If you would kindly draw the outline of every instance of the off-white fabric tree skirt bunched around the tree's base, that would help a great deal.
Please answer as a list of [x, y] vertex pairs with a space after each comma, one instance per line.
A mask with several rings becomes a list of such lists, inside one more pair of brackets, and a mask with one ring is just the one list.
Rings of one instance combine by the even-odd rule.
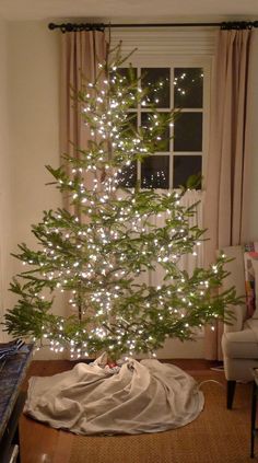
[[130, 359], [116, 372], [96, 361], [54, 377], [33, 377], [24, 412], [80, 435], [137, 435], [185, 426], [203, 404], [197, 382], [179, 368]]

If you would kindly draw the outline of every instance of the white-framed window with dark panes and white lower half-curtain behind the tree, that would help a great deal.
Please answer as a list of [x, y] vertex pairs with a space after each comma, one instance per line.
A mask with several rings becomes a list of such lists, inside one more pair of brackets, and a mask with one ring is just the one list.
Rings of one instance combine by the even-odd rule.
[[[215, 48], [214, 30], [112, 30], [112, 44], [122, 42], [125, 56], [133, 48], [137, 51], [130, 57], [130, 62], [140, 76], [141, 70], [146, 70], [149, 81], [157, 80], [163, 76], [167, 84], [163, 88], [160, 96], [159, 111], [166, 112], [173, 107], [181, 107], [180, 119], [169, 128], [175, 138], [161, 151], [145, 160], [144, 164], [128, 167], [126, 178], [129, 185], [134, 185], [139, 180], [145, 186], [153, 181], [157, 188], [173, 188], [183, 184], [186, 178], [201, 172], [203, 175], [201, 188], [204, 189], [206, 165], [209, 140], [209, 114], [210, 114], [210, 83], [212, 60]], [[126, 70], [124, 72], [127, 72]], [[184, 76], [184, 77], [183, 77]], [[183, 78], [181, 78], [183, 77]], [[143, 83], [148, 84], [148, 78]], [[192, 82], [194, 80], [194, 82]], [[187, 92], [186, 92], [187, 90]], [[185, 93], [184, 93], [185, 92]], [[169, 106], [168, 106], [169, 102]], [[145, 123], [148, 107], [130, 109], [134, 124]], [[157, 175], [159, 172], [159, 175]], [[163, 175], [163, 173], [165, 173]], [[183, 201], [185, 207], [198, 202], [197, 217], [190, 218], [192, 225], [198, 223], [202, 228], [203, 192], [187, 192]], [[162, 218], [156, 218], [162, 221]], [[198, 255], [183, 256], [180, 267], [191, 275], [195, 266], [203, 266], [203, 246], [198, 246]], [[160, 271], [149, 275], [153, 285], [160, 285]], [[201, 338], [203, 329], [197, 329], [197, 352], [202, 351]], [[178, 346], [167, 344], [165, 352], [168, 355]], [[186, 355], [192, 352], [192, 345], [186, 347]], [[199, 355], [199, 354], [197, 354]]]

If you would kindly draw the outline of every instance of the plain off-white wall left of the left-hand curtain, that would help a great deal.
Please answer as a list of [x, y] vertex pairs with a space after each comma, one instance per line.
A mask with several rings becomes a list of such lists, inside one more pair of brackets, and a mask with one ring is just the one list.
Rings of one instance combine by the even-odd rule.
[[[1, 56], [0, 63], [5, 74], [0, 79], [8, 79], [5, 106], [9, 108], [10, 140], [1, 169], [4, 196], [9, 201], [1, 205], [1, 218], [5, 208], [8, 224], [11, 223], [11, 231], [4, 224], [1, 232], [1, 240], [5, 239], [2, 246], [5, 263], [2, 267], [8, 269], [3, 271], [3, 305], [7, 308], [13, 300], [7, 290], [10, 278], [22, 268], [20, 261], [10, 257], [10, 252], [16, 252], [17, 243], [22, 242], [35, 246], [31, 224], [42, 219], [44, 209], [61, 206], [61, 198], [52, 186], [45, 185], [52, 181], [45, 165], [58, 166], [60, 155], [59, 36], [50, 33], [43, 22], [9, 22], [4, 24], [4, 30], [7, 40], [3, 57], [7, 61], [8, 55], [8, 63]], [[0, 85], [0, 91], [2, 88]], [[4, 127], [1, 124], [2, 113], [4, 109], [0, 113], [0, 126]], [[7, 126], [5, 119], [4, 123]], [[0, 143], [7, 144], [8, 141], [0, 140]], [[61, 310], [61, 305], [57, 308], [57, 312]]]

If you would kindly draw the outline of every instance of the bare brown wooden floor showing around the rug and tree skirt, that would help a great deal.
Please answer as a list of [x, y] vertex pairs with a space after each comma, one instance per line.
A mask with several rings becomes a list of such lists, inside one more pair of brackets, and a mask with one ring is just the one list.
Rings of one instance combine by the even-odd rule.
[[[201, 372], [207, 373], [214, 362], [208, 360], [165, 360], [172, 362], [190, 374]], [[74, 362], [69, 360], [33, 361], [23, 389], [27, 389], [27, 380], [32, 375], [49, 377], [70, 370]], [[21, 463], [69, 463], [69, 454], [72, 442], [72, 435], [64, 431], [51, 429], [33, 419], [22, 415], [20, 418], [20, 440], [21, 440]], [[90, 463], [90, 462], [89, 462]]]

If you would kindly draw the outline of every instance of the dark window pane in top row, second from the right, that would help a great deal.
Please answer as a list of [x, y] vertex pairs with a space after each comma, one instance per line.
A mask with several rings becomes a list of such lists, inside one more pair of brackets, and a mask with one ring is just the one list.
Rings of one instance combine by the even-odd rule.
[[171, 69], [142, 68], [142, 89], [148, 89], [146, 106], [171, 107]]

